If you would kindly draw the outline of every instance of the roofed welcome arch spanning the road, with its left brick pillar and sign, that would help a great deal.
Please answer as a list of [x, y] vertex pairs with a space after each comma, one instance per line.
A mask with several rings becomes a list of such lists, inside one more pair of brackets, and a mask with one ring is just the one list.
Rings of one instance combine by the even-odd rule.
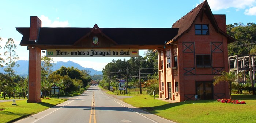
[[29, 103], [41, 102], [41, 50], [48, 57], [136, 57], [139, 49], [163, 50], [178, 33], [177, 28], [99, 28], [97, 24], [93, 28], [44, 28], [37, 16], [30, 17], [30, 27], [16, 30], [23, 35], [20, 45], [29, 50]]

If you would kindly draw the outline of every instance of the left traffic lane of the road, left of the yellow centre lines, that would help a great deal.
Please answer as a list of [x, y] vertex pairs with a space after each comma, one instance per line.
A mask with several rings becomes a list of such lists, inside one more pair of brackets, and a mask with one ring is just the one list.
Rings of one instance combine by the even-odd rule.
[[78, 98], [70, 99], [48, 110], [19, 120], [17, 123], [88, 122], [91, 109], [91, 95], [89, 93], [90, 91], [86, 91]]

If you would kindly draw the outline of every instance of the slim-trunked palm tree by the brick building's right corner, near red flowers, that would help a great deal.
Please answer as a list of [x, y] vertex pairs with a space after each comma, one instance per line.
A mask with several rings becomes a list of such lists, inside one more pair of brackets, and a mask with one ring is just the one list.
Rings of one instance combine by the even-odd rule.
[[228, 82], [229, 84], [229, 96], [231, 99], [231, 90], [232, 90], [232, 82], [234, 82], [237, 78], [237, 75], [234, 72], [221, 72], [220, 76], [214, 76], [214, 82], [213, 85], [215, 86], [216, 84], [219, 84], [220, 82]]

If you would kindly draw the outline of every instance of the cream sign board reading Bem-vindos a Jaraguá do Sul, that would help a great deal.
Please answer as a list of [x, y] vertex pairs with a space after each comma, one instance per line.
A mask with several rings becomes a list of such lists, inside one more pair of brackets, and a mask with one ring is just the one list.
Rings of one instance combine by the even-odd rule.
[[138, 57], [139, 49], [47, 49], [46, 57]]

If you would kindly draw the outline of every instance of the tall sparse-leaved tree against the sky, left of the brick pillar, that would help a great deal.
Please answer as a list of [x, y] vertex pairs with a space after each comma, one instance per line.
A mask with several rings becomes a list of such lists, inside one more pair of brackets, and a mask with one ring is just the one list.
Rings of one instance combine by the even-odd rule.
[[16, 48], [17, 46], [14, 44], [13, 39], [9, 38], [4, 47], [4, 49], [7, 49], [7, 51], [4, 52], [4, 56], [8, 56], [6, 58], [8, 62], [5, 63], [7, 68], [5, 68], [4, 71], [9, 73], [9, 76], [15, 75], [15, 70], [13, 69], [15, 66], [19, 67], [19, 64], [16, 64], [16, 60], [19, 59], [15, 51]]

